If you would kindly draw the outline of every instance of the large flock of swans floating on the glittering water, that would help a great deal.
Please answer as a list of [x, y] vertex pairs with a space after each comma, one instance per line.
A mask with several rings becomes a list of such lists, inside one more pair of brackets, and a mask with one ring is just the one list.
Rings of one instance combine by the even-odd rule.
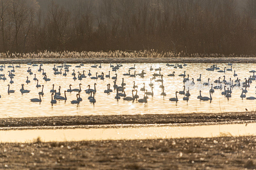
[[[167, 67], [170, 67], [173, 69], [172, 73], [167, 74], [166, 76], [168, 77], [174, 77], [174, 76], [178, 76], [180, 77], [180, 81], [183, 82], [183, 87], [181, 91], [176, 91], [175, 92], [175, 97], [169, 98], [170, 101], [174, 101], [174, 102], [178, 102], [178, 95], [182, 95], [182, 100], [188, 101], [189, 97], [191, 96], [189, 93], [189, 89], [193, 89], [195, 86], [195, 82], [194, 81], [198, 81], [201, 83], [202, 86], [205, 87], [209, 87], [209, 96], [201, 96], [201, 90], [199, 90], [199, 96], [197, 96], [197, 99], [202, 100], [202, 101], [207, 101], [207, 100], [212, 100], [212, 94], [215, 92], [215, 90], [220, 90], [221, 95], [230, 98], [231, 94], [232, 94], [232, 89], [233, 88], [240, 88], [241, 89], [241, 98], [246, 98], [248, 100], [254, 100], [256, 99], [256, 97], [251, 96], [251, 97], [246, 97], [246, 93], [247, 93], [247, 87], [250, 87], [250, 84], [252, 83], [252, 81], [255, 81], [256, 75], [255, 75], [255, 70], [251, 70], [249, 71], [250, 74], [248, 78], [244, 78], [242, 81], [241, 79], [239, 79], [237, 77], [236, 71], [232, 69], [232, 63], [228, 63], [226, 67], [224, 67], [223, 69], [220, 69], [219, 67], [217, 67], [216, 64], [213, 64], [211, 67], [206, 68], [207, 71], [210, 71], [212, 73], [219, 72], [219, 73], [223, 73], [223, 77], [219, 77], [217, 80], [211, 80], [210, 78], [208, 78], [207, 82], [201, 82], [201, 76], [202, 74], [199, 74], [199, 78], [195, 79], [191, 78], [189, 79], [189, 74], [186, 73], [186, 71], [182, 71], [182, 74], [176, 74], [176, 72], [180, 71], [180, 69], [182, 69], [183, 67], [186, 68], [187, 64], [182, 63], [182, 64], [165, 64]], [[30, 99], [31, 102], [42, 102], [42, 98], [44, 96], [44, 85], [40, 85], [40, 81], [51, 81], [51, 78], [47, 77], [47, 75], [49, 75], [47, 72], [49, 72], [49, 70], [44, 70], [44, 66], [43, 64], [35, 64], [35, 63], [27, 63], [28, 66], [28, 70], [27, 70], [27, 74], [28, 76], [26, 77], [27, 80], [25, 81], [25, 83], [29, 84], [31, 81], [29, 80], [29, 75], [33, 76], [33, 81], [36, 81], [36, 88], [41, 88], [40, 91], [38, 92], [39, 98], [32, 98]], [[4, 72], [6, 74], [0, 74], [0, 80], [4, 80], [7, 81], [7, 78], [10, 79], [10, 84], [14, 83], [15, 80], [15, 71], [16, 69], [19, 69], [21, 66], [20, 64], [14, 66], [13, 64], [5, 67], [5, 64], [0, 66], [0, 71]], [[22, 66], [22, 67], [26, 67], [26, 66]], [[148, 101], [148, 96], [154, 96], [154, 82], [160, 82], [161, 85], [159, 86], [159, 88], [162, 90], [161, 92], [161, 96], [167, 96], [167, 94], [164, 92], [164, 76], [163, 74], [161, 74], [161, 67], [159, 68], [152, 68], [152, 66], [148, 69], [148, 70], [141, 70], [138, 71], [138, 69], [136, 69], [136, 64], [133, 64], [132, 67], [130, 67], [127, 70], [127, 73], [120, 75], [118, 74], [118, 70], [121, 69], [123, 67], [123, 65], [121, 63], [116, 63], [116, 64], [111, 64], [108, 66], [108, 72], [104, 73], [101, 72], [100, 69], [103, 66], [101, 66], [101, 64], [94, 64], [91, 66], [91, 68], [95, 68], [98, 69], [98, 71], [95, 73], [95, 75], [92, 75], [90, 68], [86, 68], [84, 66], [83, 63], [76, 65], [76, 66], [72, 66], [72, 65], [68, 65], [67, 63], [62, 63], [61, 65], [56, 66], [55, 64], [52, 67], [52, 73], [56, 76], [67, 76], [68, 74], [72, 75], [72, 79], [74, 81], [79, 80], [79, 88], [76, 89], [72, 89], [72, 85], [69, 85], [69, 89], [64, 90], [64, 96], [61, 96], [61, 87], [59, 86], [59, 89], [56, 90], [54, 89], [54, 84], [52, 85], [52, 89], [49, 91], [49, 95], [51, 94], [52, 99], [50, 101], [50, 103], [57, 103], [57, 100], [64, 100], [67, 101], [67, 96], [66, 93], [72, 93], [72, 92], [76, 92], [76, 100], [72, 100], [70, 101], [72, 104], [79, 104], [83, 99], [82, 99], [82, 93], [85, 92], [86, 94], [88, 94], [88, 100], [91, 103], [95, 103], [96, 102], [96, 92], [97, 93], [103, 93], [103, 91], [98, 92], [96, 90], [96, 85], [97, 82], [99, 83], [103, 83], [104, 79], [112, 79], [113, 80], [113, 85], [111, 85], [110, 83], [107, 83], [107, 89], [104, 90], [104, 93], [106, 94], [110, 94], [113, 92], [113, 90], [116, 90], [116, 96], [115, 99], [120, 100], [126, 100], [126, 101], [137, 101], [138, 103], [147, 103]], [[106, 66], [104, 66], [106, 67]], [[73, 69], [71, 69], [73, 68]], [[88, 69], [88, 72], [85, 73], [85, 71], [83, 70], [82, 72], [77, 71], [76, 69], [78, 68], [83, 68], [83, 69]], [[10, 69], [10, 70], [8, 70]], [[70, 69], [70, 70], [69, 70]], [[7, 71], [8, 70], [8, 71]], [[36, 74], [34, 74], [32, 72], [32, 70], [37, 70]], [[6, 72], [7, 71], [7, 72]], [[136, 73], [137, 71], [137, 73]], [[71, 73], [69, 73], [71, 72]], [[98, 73], [99, 72], [99, 73]], [[110, 76], [110, 72], [113, 76]], [[115, 74], [113, 74], [112, 72], [114, 72]], [[139, 73], [138, 73], [139, 72]], [[234, 72], [233, 76], [236, 78], [235, 81], [231, 80], [231, 77], [229, 78], [229, 80], [226, 80], [226, 76], [225, 73], [226, 72]], [[42, 75], [41, 77], [43, 77], [42, 79], [36, 77], [36, 75]], [[126, 89], [126, 83], [124, 81], [125, 77], [140, 77], [142, 80], [145, 77], [145, 74], [150, 74], [151, 78], [150, 78], [150, 83], [148, 84], [148, 86], [150, 87], [150, 89], [146, 89], [145, 88], [145, 82], [142, 84], [143, 86], [141, 88], [138, 88], [138, 86], [136, 85], [136, 82], [133, 81], [133, 86], [132, 86], [132, 96], [127, 96], [125, 93], [125, 89]], [[7, 75], [7, 76], [6, 76]], [[37, 79], [38, 78], [38, 79]], [[88, 89], [81, 89], [81, 85], [82, 85], [82, 80], [83, 79], [91, 79], [91, 81], [94, 83], [93, 88], [91, 89], [90, 85], [88, 85]], [[121, 85], [117, 85], [117, 80], [122, 79], [122, 83]], [[223, 79], [223, 80], [222, 80]], [[211, 81], [210, 81], [211, 80]], [[8, 80], [9, 81], [9, 80]], [[12, 93], [15, 92], [15, 90], [10, 89], [10, 84], [8, 84], [8, 90], [7, 93], [10, 95]], [[213, 86], [214, 84], [214, 86]], [[113, 87], [113, 90], [111, 89], [111, 86]], [[185, 89], [187, 89], [185, 91]], [[223, 89], [223, 91], [222, 91]], [[144, 95], [142, 97], [138, 96], [138, 91], [142, 91], [144, 93]], [[21, 84], [21, 89], [20, 89], [21, 94], [25, 94], [25, 93], [29, 93], [30, 90], [28, 89], [24, 89], [24, 84]], [[48, 93], [48, 92], [47, 92]], [[46, 95], [48, 95], [46, 93]], [[171, 94], [169, 94], [171, 95]], [[1, 97], [1, 96], [0, 96]]]

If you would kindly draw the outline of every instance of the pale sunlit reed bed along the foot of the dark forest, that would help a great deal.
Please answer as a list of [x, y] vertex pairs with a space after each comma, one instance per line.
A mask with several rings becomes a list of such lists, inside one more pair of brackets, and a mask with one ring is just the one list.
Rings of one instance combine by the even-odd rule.
[[173, 51], [169, 52], [159, 52], [153, 50], [140, 50], [140, 51], [62, 51], [62, 52], [52, 52], [45, 50], [44, 52], [38, 53], [0, 53], [0, 59], [43, 59], [43, 58], [250, 58], [256, 57], [256, 54], [246, 55], [246, 54], [218, 54], [218, 53], [193, 53], [189, 54], [186, 52], [175, 53]]

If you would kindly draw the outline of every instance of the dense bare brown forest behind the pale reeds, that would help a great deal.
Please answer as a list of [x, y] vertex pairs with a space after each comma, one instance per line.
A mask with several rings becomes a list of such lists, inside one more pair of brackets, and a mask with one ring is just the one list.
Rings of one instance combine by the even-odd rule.
[[0, 52], [256, 53], [254, 0], [0, 0]]

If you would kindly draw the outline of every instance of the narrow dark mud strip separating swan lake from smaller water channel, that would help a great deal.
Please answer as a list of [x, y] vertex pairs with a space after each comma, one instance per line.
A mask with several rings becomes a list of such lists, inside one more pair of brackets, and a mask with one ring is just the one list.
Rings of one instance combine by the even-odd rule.
[[1, 118], [0, 127], [68, 126], [105, 124], [185, 124], [204, 122], [228, 122], [256, 120], [256, 112], [145, 114], [145, 115], [97, 115]]

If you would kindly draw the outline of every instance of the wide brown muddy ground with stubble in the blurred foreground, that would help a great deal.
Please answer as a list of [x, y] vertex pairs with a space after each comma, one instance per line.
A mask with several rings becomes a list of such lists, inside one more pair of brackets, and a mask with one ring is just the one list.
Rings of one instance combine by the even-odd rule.
[[256, 137], [0, 144], [1, 168], [255, 169]]

